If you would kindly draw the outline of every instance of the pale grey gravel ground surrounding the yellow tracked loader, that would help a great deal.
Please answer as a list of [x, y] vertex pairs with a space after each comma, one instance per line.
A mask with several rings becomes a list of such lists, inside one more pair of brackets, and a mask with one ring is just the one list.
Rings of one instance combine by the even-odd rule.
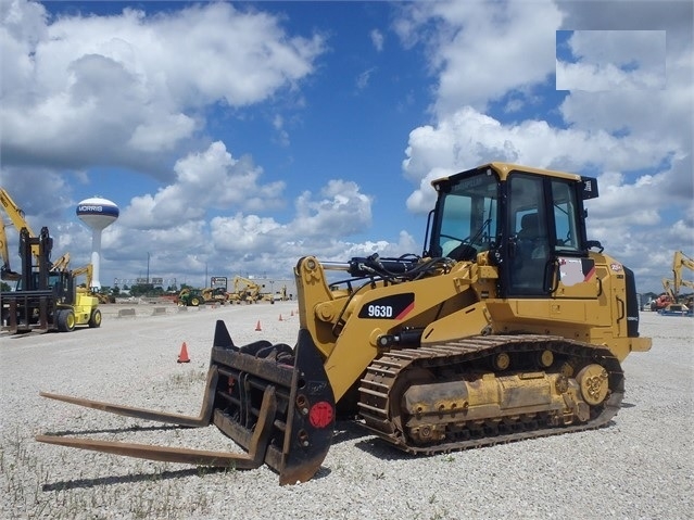
[[[39, 433], [238, 451], [216, 428], [162, 427], [39, 397], [40, 390], [197, 415], [216, 319], [237, 344], [293, 344], [292, 302], [104, 306], [100, 329], [0, 335], [2, 518], [462, 519], [694, 517], [694, 319], [642, 313], [648, 353], [623, 364], [627, 395], [607, 428], [413, 457], [338, 422], [323, 468], [278, 485], [263, 467], [215, 471], [34, 441]], [[282, 318], [281, 320], [279, 318]], [[262, 331], [256, 331], [257, 322]], [[182, 342], [189, 364], [177, 364]]]

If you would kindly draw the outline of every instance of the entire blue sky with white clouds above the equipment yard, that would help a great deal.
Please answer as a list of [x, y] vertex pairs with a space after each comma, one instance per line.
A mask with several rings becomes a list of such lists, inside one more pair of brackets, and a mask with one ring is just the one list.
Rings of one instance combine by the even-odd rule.
[[[694, 253], [692, 3], [27, 2], [0, 11], [0, 183], [101, 283], [420, 253], [430, 181], [595, 175], [589, 237], [659, 291]], [[16, 233], [10, 230], [14, 253]], [[18, 257], [13, 257], [18, 264]]]

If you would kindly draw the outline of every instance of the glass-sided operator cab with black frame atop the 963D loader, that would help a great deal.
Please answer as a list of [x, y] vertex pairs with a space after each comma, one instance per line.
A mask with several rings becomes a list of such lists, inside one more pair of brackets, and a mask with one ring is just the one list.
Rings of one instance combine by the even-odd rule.
[[588, 258], [583, 200], [595, 179], [492, 163], [433, 182], [439, 198], [429, 256], [475, 262], [489, 252], [506, 296], [556, 289], [558, 258]]

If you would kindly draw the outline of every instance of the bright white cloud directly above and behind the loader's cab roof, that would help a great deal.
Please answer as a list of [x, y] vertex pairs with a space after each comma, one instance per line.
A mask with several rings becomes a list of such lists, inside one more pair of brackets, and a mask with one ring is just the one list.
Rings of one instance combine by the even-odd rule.
[[[657, 164], [673, 153], [674, 145], [668, 140], [617, 138], [602, 130], [555, 128], [544, 121], [503, 124], [467, 106], [440, 119], [436, 127], [413, 130], [403, 169], [415, 182], [427, 180], [417, 192], [428, 193], [428, 181], [433, 178], [491, 161], [565, 170], [581, 170], [591, 164], [631, 170]], [[415, 198], [430, 202], [421, 193]], [[412, 210], [427, 207], [431, 206], [413, 205]]]

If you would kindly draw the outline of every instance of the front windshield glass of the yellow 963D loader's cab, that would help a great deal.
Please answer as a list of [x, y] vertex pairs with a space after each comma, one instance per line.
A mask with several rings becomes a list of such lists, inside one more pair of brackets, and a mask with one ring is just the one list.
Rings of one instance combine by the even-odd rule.
[[491, 170], [442, 186], [431, 253], [474, 259], [496, 237], [499, 180]]

